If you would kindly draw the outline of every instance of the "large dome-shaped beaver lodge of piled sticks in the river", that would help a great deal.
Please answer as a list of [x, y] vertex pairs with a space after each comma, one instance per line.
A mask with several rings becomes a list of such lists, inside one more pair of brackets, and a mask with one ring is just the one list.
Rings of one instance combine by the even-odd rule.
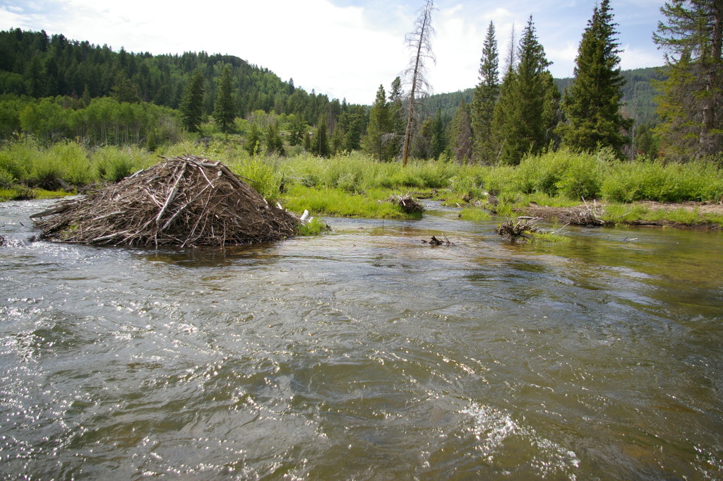
[[226, 245], [286, 239], [299, 218], [269, 205], [228, 167], [164, 158], [117, 184], [33, 214], [42, 238], [105, 245]]

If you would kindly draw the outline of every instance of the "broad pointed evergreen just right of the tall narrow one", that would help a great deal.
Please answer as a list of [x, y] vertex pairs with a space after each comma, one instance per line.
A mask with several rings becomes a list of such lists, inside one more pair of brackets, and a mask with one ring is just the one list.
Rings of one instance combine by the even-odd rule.
[[492, 133], [501, 163], [516, 165], [526, 153], [539, 153], [552, 138], [553, 103], [559, 94], [549, 64], [530, 17], [520, 40], [517, 67], [508, 68], [493, 114]]

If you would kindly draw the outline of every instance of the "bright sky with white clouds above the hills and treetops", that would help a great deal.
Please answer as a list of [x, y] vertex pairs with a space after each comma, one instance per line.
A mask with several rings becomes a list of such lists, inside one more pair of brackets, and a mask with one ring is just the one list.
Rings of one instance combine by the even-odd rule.
[[[266, 67], [283, 80], [330, 98], [372, 103], [408, 64], [404, 35], [418, 1], [383, 0], [0, 0], [0, 30], [46, 30], [67, 38], [151, 54], [207, 51]], [[489, 22], [500, 58], [510, 32], [530, 15], [555, 77], [573, 75], [578, 43], [594, 0], [437, 0], [429, 65], [434, 93], [474, 87]], [[621, 67], [655, 67], [662, 54], [651, 41], [662, 0], [611, 0]], [[518, 35], [519, 38], [519, 35]], [[501, 69], [501, 66], [500, 66]]]

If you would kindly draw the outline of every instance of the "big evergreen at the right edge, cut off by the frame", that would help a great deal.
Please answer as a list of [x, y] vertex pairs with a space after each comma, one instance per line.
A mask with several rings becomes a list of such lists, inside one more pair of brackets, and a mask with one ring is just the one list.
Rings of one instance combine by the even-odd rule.
[[653, 40], [666, 51], [662, 147], [683, 158], [723, 150], [723, 1], [672, 0]]

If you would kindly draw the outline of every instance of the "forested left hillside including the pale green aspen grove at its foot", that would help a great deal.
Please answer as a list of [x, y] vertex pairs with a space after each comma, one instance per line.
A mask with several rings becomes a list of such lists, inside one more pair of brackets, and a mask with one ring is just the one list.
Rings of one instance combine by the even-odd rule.
[[[366, 112], [361, 106], [330, 101], [313, 90], [307, 93], [294, 86], [294, 80], [283, 81], [237, 56], [114, 51], [64, 35], [15, 29], [0, 32], [0, 137], [22, 130], [46, 140], [173, 141], [179, 120], [176, 109], [193, 73], [202, 75], [202, 114], [208, 116], [225, 67], [231, 71], [235, 116], [243, 119], [254, 111], [273, 111], [293, 114], [312, 126], [325, 116], [330, 129], [346, 122], [354, 124], [356, 136], [361, 136], [364, 126], [360, 128], [356, 119]], [[29, 104], [33, 107], [26, 109]]]

